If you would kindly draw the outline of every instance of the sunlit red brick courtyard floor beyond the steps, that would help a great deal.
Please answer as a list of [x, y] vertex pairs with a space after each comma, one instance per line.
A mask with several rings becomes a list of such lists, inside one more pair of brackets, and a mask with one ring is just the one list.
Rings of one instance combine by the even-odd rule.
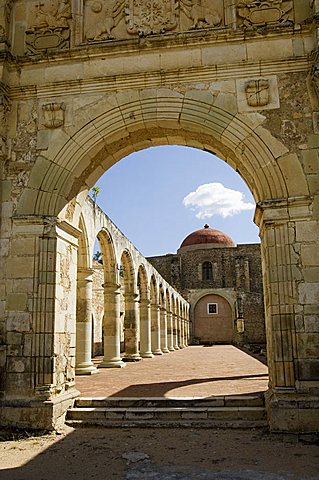
[[232, 345], [191, 346], [76, 377], [83, 397], [210, 397], [262, 392], [267, 385], [267, 367]]

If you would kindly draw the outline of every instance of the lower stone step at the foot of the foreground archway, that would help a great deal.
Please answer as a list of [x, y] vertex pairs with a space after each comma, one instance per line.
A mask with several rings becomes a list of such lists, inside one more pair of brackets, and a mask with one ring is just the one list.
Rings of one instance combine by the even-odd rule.
[[231, 427], [266, 426], [264, 407], [74, 407], [68, 410], [69, 425], [107, 427]]

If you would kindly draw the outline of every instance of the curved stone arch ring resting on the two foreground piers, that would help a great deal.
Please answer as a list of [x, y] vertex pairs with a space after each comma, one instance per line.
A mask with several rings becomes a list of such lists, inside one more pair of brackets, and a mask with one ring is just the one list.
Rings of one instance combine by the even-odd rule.
[[[118, 160], [136, 150], [161, 144], [194, 143], [222, 159], [231, 159], [256, 202], [296, 194], [296, 186], [291, 185], [294, 179], [287, 175], [287, 168], [283, 174], [281, 167], [288, 149], [261, 126], [261, 115], [229, 112], [228, 101], [224, 109], [208, 103], [208, 97], [214, 101], [209, 92], [194, 91], [185, 96], [166, 92], [166, 96], [161, 90], [161, 96], [154, 93], [153, 97], [153, 92], [148, 91], [145, 96], [140, 92], [138, 100], [133, 95], [133, 101], [131, 92], [127, 92], [114, 101], [117, 106], [113, 103], [95, 117], [96, 109], [92, 107], [91, 112], [88, 105], [89, 121], [85, 125], [80, 119], [70, 135], [54, 132], [55, 141], [50, 142], [46, 152], [46, 175], [37, 174], [40, 165], [34, 166], [32, 178], [42, 180], [38, 191], [36, 184], [26, 191], [18, 212], [58, 214]], [[77, 122], [76, 111], [74, 118]], [[297, 156], [291, 157], [290, 163], [291, 170], [296, 165], [303, 175]], [[308, 193], [305, 187], [305, 181], [299, 183], [299, 195]]]

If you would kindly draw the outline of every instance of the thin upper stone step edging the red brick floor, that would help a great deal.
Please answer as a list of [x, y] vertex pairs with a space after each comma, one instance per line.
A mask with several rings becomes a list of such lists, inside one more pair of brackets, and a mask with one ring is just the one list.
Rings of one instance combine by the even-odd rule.
[[216, 397], [81, 397], [76, 407], [263, 407], [264, 395], [227, 395]]

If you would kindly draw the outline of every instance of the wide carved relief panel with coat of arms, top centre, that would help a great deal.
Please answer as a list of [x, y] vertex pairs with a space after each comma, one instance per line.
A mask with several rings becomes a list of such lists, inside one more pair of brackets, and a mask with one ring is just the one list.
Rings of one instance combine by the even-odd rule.
[[214, 28], [224, 24], [224, 0], [85, 0], [84, 37], [88, 42], [133, 35]]

